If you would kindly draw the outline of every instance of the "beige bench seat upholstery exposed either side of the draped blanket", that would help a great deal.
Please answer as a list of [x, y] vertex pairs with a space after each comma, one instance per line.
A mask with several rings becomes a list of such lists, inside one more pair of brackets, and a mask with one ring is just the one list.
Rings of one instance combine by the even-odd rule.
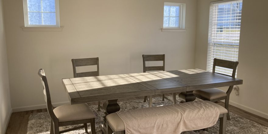
[[[228, 112], [227, 109], [225, 109], [224, 107], [215, 104], [213, 102], [210, 101], [206, 101], [212, 105], [214, 105], [215, 107], [219, 108], [220, 110], [220, 117], [223, 116], [223, 114], [226, 115], [226, 113]], [[109, 115], [106, 116], [107, 122], [109, 127], [111, 127], [112, 131], [115, 132], [115, 134], [117, 134], [116, 132], [120, 132], [120, 131], [124, 131], [125, 130], [125, 125], [123, 120], [118, 116], [117, 113], [111, 113]], [[225, 121], [226, 122], [226, 121]], [[123, 132], [120, 132], [123, 133]], [[108, 133], [109, 134], [109, 133]]]

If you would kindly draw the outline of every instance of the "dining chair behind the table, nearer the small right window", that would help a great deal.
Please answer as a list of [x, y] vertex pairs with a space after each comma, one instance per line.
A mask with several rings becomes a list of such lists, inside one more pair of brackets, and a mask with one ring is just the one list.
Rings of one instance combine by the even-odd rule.
[[[146, 71], [165, 71], [165, 55], [142, 55], [143, 57], [143, 72]], [[151, 61], [163, 61], [163, 66], [146, 66], [146, 62], [151, 62]], [[152, 95], [150, 95], [150, 99], [147, 99], [147, 96], [144, 97], [143, 102], [146, 102], [146, 100], [149, 103], [149, 107], [152, 106]], [[164, 99], [167, 99], [168, 101], [173, 102], [176, 104], [176, 93], [173, 93], [173, 101], [170, 100], [169, 98], [165, 97], [163, 94], [162, 101]]]

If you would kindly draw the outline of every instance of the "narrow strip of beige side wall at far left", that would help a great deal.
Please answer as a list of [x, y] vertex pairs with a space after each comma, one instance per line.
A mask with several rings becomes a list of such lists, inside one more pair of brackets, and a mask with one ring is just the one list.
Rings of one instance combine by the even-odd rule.
[[0, 134], [4, 134], [12, 113], [9, 94], [3, 2], [0, 0]]

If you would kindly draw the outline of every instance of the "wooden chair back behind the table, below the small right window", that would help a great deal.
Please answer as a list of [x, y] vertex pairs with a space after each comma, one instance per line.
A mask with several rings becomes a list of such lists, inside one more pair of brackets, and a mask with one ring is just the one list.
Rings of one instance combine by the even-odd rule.
[[[143, 56], [143, 72], [146, 71], [165, 71], [165, 55], [142, 55]], [[163, 66], [146, 66], [145, 62], [163, 61]]]

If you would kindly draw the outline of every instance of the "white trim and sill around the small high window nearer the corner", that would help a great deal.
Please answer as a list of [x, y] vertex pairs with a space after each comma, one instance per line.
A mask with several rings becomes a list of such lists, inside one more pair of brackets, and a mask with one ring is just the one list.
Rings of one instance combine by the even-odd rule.
[[[179, 26], [163, 26], [162, 32], [185, 32], [185, 12], [186, 12], [186, 4], [185, 3], [170, 3], [164, 2], [164, 6], [179, 6], [180, 7], [180, 15], [179, 15]], [[164, 13], [164, 12], [163, 12]], [[163, 15], [164, 20], [164, 15]], [[163, 24], [164, 25], [164, 24]]]

